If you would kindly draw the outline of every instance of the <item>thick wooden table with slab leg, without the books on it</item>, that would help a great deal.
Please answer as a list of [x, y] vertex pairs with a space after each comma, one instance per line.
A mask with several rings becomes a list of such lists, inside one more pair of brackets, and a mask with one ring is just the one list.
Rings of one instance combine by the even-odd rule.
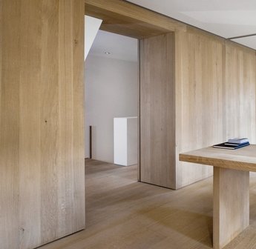
[[256, 145], [206, 147], [180, 153], [180, 161], [214, 166], [213, 247], [221, 249], [249, 225], [249, 171], [256, 171]]

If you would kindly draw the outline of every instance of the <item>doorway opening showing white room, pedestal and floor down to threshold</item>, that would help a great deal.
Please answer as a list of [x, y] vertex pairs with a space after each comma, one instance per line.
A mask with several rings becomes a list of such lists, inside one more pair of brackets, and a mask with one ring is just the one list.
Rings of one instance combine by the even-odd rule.
[[119, 191], [137, 184], [138, 52], [137, 39], [99, 30], [85, 59], [87, 227], [107, 219], [102, 208], [111, 213], [108, 202], [118, 208]]

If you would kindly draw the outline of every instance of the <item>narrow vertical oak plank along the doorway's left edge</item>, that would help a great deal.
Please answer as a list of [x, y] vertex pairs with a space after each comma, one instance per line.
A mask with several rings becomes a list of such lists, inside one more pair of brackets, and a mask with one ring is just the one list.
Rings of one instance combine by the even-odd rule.
[[[76, 0], [73, 4], [73, 13], [79, 18], [73, 18], [73, 54], [72, 54], [72, 81], [73, 81], [73, 228], [81, 230], [85, 228], [85, 81], [84, 81], [84, 36], [85, 16], [82, 16], [82, 2]], [[83, 19], [83, 20], [82, 20]], [[83, 43], [82, 43], [83, 41]], [[79, 218], [79, 219], [77, 219]], [[68, 225], [68, 222], [66, 222]]]

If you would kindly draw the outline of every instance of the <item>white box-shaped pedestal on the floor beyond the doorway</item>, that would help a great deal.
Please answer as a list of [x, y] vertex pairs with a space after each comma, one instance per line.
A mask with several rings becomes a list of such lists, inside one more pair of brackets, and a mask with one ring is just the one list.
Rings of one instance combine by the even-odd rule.
[[114, 118], [114, 164], [137, 164], [137, 117]]

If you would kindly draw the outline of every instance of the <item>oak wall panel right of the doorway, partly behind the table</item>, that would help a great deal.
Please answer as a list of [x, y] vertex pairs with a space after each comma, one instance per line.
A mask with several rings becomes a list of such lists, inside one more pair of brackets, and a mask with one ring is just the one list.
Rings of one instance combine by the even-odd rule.
[[222, 53], [219, 41], [176, 33], [177, 188], [212, 174], [211, 167], [178, 162], [178, 153], [222, 141]]

